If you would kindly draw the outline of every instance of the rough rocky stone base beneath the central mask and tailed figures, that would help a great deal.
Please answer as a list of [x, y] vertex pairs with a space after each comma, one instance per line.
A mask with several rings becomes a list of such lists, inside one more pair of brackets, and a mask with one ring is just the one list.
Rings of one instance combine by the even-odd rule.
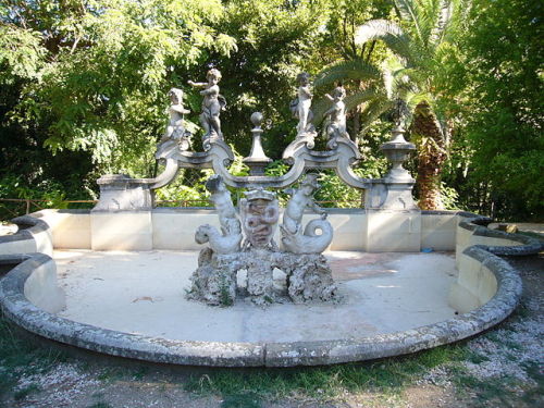
[[[274, 285], [274, 269], [286, 275], [286, 288]], [[247, 287], [237, 285], [237, 273], [247, 271]], [[231, 306], [237, 298], [257, 305], [331, 301], [336, 299], [336, 284], [326, 258], [320, 254], [289, 254], [250, 249], [236, 254], [200, 251], [198, 268], [190, 277], [187, 298], [212, 306]]]

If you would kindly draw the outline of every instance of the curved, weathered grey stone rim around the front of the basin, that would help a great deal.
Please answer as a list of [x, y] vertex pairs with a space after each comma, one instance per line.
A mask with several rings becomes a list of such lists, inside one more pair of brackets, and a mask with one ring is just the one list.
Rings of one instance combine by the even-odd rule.
[[463, 254], [484, 260], [496, 276], [497, 293], [487, 304], [443, 322], [361, 338], [293, 343], [184, 342], [77, 323], [44, 311], [25, 297], [24, 284], [36, 262], [50, 260], [41, 254], [29, 256], [0, 281], [0, 302], [8, 318], [32, 333], [112, 356], [212, 367], [290, 367], [362, 361], [456, 342], [493, 326], [511, 313], [521, 295], [521, 280], [517, 272], [484, 248], [470, 247]]

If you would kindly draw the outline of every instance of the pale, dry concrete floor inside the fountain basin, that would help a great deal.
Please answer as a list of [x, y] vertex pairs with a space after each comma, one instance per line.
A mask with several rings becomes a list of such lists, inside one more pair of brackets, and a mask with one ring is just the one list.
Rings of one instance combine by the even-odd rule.
[[[342, 300], [228, 308], [185, 299], [197, 251], [57, 250], [66, 293], [60, 317], [119, 332], [181, 341], [299, 342], [393, 333], [454, 317], [452, 254], [329, 252]], [[279, 277], [281, 275], [277, 274]]]

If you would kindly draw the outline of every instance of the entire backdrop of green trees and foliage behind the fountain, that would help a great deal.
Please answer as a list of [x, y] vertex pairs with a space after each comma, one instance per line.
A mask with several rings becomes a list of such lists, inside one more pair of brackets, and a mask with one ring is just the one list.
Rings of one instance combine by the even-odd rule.
[[[430, 113], [411, 138], [442, 157], [410, 165], [429, 164], [447, 208], [542, 219], [541, 14], [540, 3], [521, 0], [2, 2], [0, 195], [62, 206], [96, 198], [107, 172], [152, 176], [169, 88], [187, 90], [198, 144], [201, 97], [185, 84], [217, 66], [228, 102], [223, 131], [242, 156], [249, 116], [261, 111], [264, 149], [280, 159], [295, 137], [295, 77], [321, 72], [316, 122], [330, 103], [320, 98], [344, 79], [360, 174], [384, 174], [379, 146], [401, 98], [409, 112]], [[232, 170], [245, 174], [240, 164]], [[206, 199], [205, 176], [183, 171], [158, 198]], [[347, 197], [323, 176], [332, 197]]]

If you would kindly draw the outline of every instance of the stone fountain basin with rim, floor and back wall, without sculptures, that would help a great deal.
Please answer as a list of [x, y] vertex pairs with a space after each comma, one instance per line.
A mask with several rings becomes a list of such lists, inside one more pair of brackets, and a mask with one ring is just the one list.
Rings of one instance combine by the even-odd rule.
[[[460, 211], [339, 211], [330, 215], [337, 235], [326, 252], [338, 302], [263, 308], [238, 299], [220, 308], [185, 298], [198, 250], [186, 244], [188, 234], [176, 234], [211, 217], [160, 209], [94, 220], [89, 212], [47, 210], [16, 219], [20, 231], [0, 237], [4, 316], [52, 341], [152, 362], [362, 361], [456, 342], [497, 324], [521, 294], [517, 271], [498, 255], [543, 250], [542, 243], [489, 230], [479, 225], [484, 219]], [[111, 247], [118, 244], [148, 249]], [[281, 288], [282, 273], [275, 277]], [[244, 285], [243, 272], [238, 283]]]

